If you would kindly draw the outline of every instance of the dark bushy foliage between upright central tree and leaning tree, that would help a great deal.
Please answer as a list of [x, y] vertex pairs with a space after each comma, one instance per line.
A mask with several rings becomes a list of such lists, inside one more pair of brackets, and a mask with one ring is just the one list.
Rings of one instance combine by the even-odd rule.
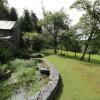
[[[60, 33], [59, 44], [61, 50], [81, 52], [79, 44], [79, 35], [77, 34], [77, 25], [69, 27], [69, 31], [62, 31]], [[76, 54], [75, 54], [76, 55]]]

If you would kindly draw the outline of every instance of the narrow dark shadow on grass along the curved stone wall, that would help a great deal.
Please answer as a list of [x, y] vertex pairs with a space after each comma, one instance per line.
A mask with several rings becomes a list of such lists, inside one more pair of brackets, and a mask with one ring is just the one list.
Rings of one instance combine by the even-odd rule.
[[55, 95], [55, 97], [54, 97], [53, 100], [60, 100], [60, 97], [61, 97], [61, 95], [62, 95], [62, 92], [63, 92], [63, 81], [62, 81], [61, 76], [60, 76], [60, 82], [59, 82], [59, 86], [58, 86], [58, 87], [59, 87], [59, 88], [58, 88], [58, 90], [56, 91], [57, 93], [56, 93], [56, 95]]

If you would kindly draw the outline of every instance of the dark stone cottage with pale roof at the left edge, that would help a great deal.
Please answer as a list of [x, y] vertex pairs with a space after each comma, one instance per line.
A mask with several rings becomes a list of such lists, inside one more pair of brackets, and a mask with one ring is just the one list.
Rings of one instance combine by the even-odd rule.
[[19, 46], [19, 28], [16, 21], [0, 20], [0, 41], [6, 41], [13, 48]]

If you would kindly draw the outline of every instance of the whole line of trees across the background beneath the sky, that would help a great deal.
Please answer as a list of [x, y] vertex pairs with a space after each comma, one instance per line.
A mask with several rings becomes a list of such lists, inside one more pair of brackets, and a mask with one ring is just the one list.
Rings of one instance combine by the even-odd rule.
[[71, 26], [71, 19], [63, 9], [57, 12], [43, 10], [43, 19], [38, 19], [33, 11], [24, 9], [23, 15], [18, 17], [15, 8], [9, 9], [6, 0], [0, 0], [0, 20], [17, 20], [20, 26], [20, 45], [33, 51], [54, 49], [67, 52], [82, 53], [84, 60], [88, 53], [100, 52], [100, 0], [76, 0], [71, 9], [85, 11], [79, 22]]

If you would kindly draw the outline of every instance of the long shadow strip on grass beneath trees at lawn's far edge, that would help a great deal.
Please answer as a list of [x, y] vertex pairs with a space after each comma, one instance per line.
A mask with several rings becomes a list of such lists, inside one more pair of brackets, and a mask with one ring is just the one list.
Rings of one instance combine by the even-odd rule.
[[88, 58], [85, 58], [83, 61], [80, 60], [79, 56], [72, 56], [72, 55], [65, 55], [65, 54], [58, 54], [58, 56], [63, 57], [63, 58], [69, 58], [69, 59], [74, 59], [80, 62], [85, 62], [84, 64], [97, 64], [100, 65], [100, 60], [96, 60], [96, 59], [92, 59], [90, 60], [90, 62], [88, 62]]

